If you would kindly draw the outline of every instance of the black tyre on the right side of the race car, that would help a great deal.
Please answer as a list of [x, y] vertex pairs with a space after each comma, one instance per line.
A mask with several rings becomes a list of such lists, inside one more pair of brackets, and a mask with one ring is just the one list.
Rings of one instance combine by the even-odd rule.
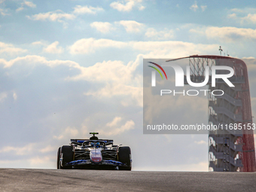
[[125, 163], [127, 166], [119, 166], [120, 170], [132, 170], [131, 163], [131, 149], [128, 146], [122, 146], [118, 148], [117, 160], [121, 163]]

